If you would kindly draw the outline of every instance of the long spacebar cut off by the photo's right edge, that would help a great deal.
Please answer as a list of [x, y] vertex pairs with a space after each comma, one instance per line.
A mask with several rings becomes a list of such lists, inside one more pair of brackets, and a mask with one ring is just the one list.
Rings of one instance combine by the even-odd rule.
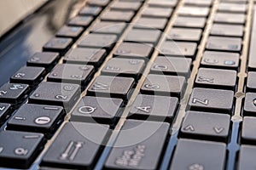
[[256, 71], [256, 11], [253, 14], [253, 27], [251, 34], [251, 44], [250, 44], [250, 52], [249, 52], [249, 60], [248, 60], [248, 68], [249, 71]]

